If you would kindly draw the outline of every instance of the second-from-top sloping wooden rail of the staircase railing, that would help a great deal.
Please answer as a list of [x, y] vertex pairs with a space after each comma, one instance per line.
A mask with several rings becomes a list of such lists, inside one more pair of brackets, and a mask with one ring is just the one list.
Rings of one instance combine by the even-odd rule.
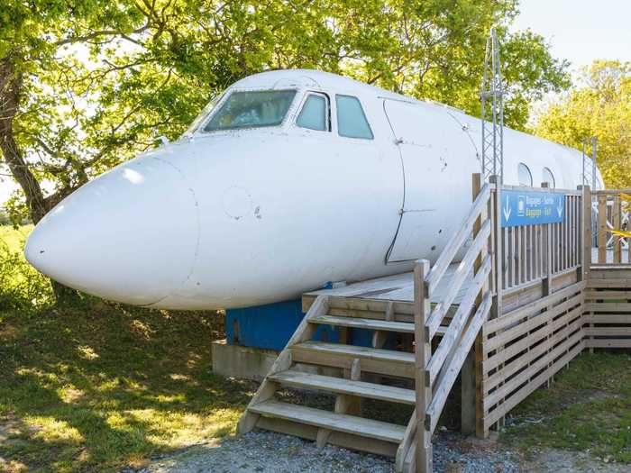
[[425, 323], [425, 340], [431, 341], [434, 337], [438, 327], [443, 322], [444, 315], [447, 314], [450, 305], [453, 304], [453, 299], [458, 295], [458, 291], [462, 287], [462, 283], [465, 278], [470, 274], [471, 268], [473, 268], [473, 262], [478, 258], [480, 254], [480, 250], [486, 244], [487, 240], [490, 236], [490, 219], [488, 219], [480, 228], [480, 232], [473, 240], [471, 247], [467, 250], [467, 254], [462, 259], [458, 268], [456, 268], [454, 272], [453, 279], [451, 281], [450, 286], [447, 288], [445, 296], [437, 305], [435, 305], [434, 310], [430, 314]]

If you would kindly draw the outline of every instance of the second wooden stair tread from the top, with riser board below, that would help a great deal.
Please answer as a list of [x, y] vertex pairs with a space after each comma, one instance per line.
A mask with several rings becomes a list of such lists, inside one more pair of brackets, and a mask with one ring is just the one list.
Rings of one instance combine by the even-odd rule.
[[296, 363], [311, 363], [350, 369], [353, 359], [361, 360], [361, 371], [393, 377], [415, 377], [414, 353], [357, 347], [323, 341], [304, 341], [291, 347]]

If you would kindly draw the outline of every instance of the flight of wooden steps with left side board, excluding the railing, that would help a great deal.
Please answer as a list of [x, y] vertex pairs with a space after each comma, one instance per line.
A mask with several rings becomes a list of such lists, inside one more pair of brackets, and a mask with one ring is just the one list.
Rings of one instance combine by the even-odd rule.
[[[407, 425], [369, 419], [361, 415], [361, 400], [392, 403], [393, 409], [416, 404], [414, 353], [384, 348], [389, 332], [409, 338], [414, 333], [414, 323], [395, 321], [393, 303], [386, 305], [380, 319], [357, 316], [361, 315], [358, 311], [344, 316], [331, 315], [330, 305], [343, 305], [334, 299], [331, 296], [315, 299], [252, 398], [239, 422], [239, 432], [249, 432], [256, 427], [297, 435], [316, 441], [321, 447], [332, 443], [394, 456], [403, 468], [412, 443], [416, 415], [410, 414]], [[374, 312], [370, 316], [374, 317]], [[371, 330], [374, 333], [372, 347], [314, 341], [319, 325], [338, 327], [341, 341], [344, 341], [345, 329]], [[409, 348], [411, 350], [411, 346]], [[321, 374], [323, 371], [326, 376]], [[390, 386], [393, 384], [399, 386]], [[286, 387], [333, 395], [334, 410], [283, 402], [278, 395]]]

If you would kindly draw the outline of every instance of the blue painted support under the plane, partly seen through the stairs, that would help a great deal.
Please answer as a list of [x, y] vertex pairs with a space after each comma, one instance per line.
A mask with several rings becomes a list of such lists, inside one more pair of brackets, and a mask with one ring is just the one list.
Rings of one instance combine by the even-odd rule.
[[[300, 299], [257, 305], [245, 309], [225, 311], [225, 334], [229, 345], [241, 345], [269, 350], [282, 350], [305, 316]], [[238, 340], [234, 340], [234, 328], [238, 325]], [[322, 325], [315, 331], [314, 340], [339, 341], [340, 328]], [[349, 343], [370, 347], [372, 331], [352, 329]]]

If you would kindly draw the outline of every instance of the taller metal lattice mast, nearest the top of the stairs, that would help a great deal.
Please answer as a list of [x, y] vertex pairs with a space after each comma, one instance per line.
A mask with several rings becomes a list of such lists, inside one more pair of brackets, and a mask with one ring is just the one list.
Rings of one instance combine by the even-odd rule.
[[496, 175], [504, 182], [504, 83], [499, 59], [498, 37], [491, 28], [484, 55], [482, 100], [482, 174], [484, 180]]

